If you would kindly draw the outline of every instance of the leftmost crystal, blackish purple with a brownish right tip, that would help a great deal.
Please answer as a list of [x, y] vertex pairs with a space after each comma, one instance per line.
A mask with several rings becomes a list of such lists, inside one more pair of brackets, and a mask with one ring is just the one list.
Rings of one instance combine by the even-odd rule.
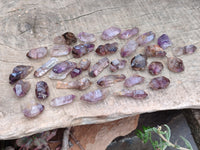
[[25, 78], [28, 74], [31, 73], [32, 70], [33, 66], [24, 66], [24, 65], [16, 66], [9, 76], [9, 83], [14, 84], [18, 80]]

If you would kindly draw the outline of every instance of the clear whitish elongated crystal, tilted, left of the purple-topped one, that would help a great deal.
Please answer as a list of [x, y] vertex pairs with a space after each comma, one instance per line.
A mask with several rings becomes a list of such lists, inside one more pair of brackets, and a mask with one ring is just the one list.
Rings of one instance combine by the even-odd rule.
[[40, 68], [38, 68], [34, 72], [34, 76], [41, 77], [41, 76], [45, 75], [51, 68], [53, 68], [53, 66], [55, 66], [57, 61], [58, 61], [57, 58], [52, 57], [51, 59], [49, 59], [45, 64], [43, 64]]

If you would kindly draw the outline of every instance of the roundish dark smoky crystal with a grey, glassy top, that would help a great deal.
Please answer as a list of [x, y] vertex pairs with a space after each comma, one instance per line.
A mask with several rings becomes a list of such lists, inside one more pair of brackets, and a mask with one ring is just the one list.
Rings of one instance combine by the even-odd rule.
[[139, 71], [144, 70], [147, 65], [147, 57], [145, 55], [139, 54], [132, 58], [131, 67], [133, 70]]

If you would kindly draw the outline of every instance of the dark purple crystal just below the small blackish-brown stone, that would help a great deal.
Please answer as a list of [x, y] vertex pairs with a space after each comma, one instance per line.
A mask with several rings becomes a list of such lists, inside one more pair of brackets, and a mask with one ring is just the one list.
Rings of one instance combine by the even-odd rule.
[[80, 58], [83, 55], [94, 50], [95, 45], [91, 43], [79, 44], [73, 47], [72, 55], [74, 58]]

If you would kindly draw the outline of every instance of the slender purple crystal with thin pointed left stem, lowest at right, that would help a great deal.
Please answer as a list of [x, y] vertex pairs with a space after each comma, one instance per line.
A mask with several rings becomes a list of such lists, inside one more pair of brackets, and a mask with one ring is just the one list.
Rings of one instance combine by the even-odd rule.
[[126, 90], [116, 92], [115, 95], [122, 97], [132, 97], [133, 99], [145, 99], [148, 94], [144, 90]]

